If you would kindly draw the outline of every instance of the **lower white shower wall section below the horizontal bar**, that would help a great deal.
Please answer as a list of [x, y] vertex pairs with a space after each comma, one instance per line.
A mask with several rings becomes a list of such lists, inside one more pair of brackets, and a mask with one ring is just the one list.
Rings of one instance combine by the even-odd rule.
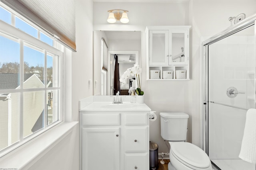
[[209, 104], [210, 159], [239, 159], [246, 110]]

